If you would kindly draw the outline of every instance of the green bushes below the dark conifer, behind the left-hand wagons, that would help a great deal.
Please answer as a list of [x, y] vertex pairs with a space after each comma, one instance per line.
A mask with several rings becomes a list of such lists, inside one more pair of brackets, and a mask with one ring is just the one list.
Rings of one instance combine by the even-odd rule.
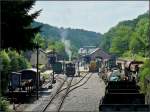
[[9, 74], [21, 69], [30, 68], [31, 64], [15, 50], [8, 50], [7, 52], [5, 50], [0, 51], [0, 59], [1, 92], [3, 94], [8, 85]]

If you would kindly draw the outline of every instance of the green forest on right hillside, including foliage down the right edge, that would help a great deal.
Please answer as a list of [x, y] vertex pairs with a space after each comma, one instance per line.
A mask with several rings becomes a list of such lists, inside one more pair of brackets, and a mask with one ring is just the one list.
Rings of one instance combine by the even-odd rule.
[[145, 79], [150, 76], [150, 19], [149, 13], [136, 19], [119, 22], [105, 33], [101, 47], [118, 58], [144, 61], [140, 69], [141, 91], [150, 92]]

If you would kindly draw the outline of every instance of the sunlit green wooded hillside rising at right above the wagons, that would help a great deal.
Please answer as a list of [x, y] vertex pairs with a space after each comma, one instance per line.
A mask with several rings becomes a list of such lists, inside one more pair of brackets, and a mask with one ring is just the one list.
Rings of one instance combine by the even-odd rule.
[[104, 34], [101, 47], [118, 56], [145, 57], [148, 55], [150, 46], [148, 26], [148, 12], [133, 20], [121, 21]]

